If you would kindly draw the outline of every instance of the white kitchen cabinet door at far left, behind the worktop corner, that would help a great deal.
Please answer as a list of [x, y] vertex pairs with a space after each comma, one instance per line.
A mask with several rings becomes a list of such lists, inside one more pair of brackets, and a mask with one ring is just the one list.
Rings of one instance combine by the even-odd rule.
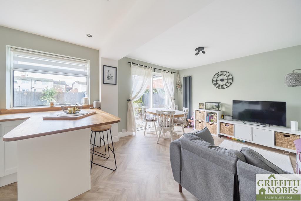
[[[24, 121], [5, 121], [1, 123], [1, 138]], [[17, 172], [17, 141], [4, 142], [2, 139], [1, 141], [0, 149], [3, 150], [3, 154], [0, 155], [2, 162], [0, 176], [5, 176]]]

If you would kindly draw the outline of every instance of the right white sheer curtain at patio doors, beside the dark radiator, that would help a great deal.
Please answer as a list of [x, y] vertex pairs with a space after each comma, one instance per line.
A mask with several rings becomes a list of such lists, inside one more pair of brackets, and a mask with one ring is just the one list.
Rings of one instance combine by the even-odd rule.
[[171, 108], [175, 109], [175, 87], [173, 83], [173, 73], [162, 71], [162, 82], [166, 96], [171, 99]]

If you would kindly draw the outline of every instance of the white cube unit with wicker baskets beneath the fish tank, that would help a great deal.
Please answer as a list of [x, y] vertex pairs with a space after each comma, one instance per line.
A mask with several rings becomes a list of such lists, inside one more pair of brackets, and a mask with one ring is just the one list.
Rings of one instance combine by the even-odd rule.
[[222, 114], [223, 111], [196, 109], [194, 128], [201, 130], [205, 127], [208, 127], [210, 133], [217, 136], [219, 133], [219, 120], [222, 118]]

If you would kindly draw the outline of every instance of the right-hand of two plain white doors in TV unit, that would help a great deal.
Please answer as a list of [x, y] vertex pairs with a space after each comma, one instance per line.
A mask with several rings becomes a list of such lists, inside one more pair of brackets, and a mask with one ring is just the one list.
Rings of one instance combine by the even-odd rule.
[[253, 142], [262, 145], [273, 146], [273, 131], [252, 128]]

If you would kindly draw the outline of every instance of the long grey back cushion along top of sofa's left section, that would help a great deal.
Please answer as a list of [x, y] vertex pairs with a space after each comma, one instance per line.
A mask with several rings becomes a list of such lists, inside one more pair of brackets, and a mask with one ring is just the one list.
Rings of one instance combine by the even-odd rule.
[[196, 136], [195, 134], [192, 134], [192, 133], [184, 133], [184, 138], [186, 140], [197, 143], [201, 146], [205, 146], [209, 149], [220, 152], [221, 154], [225, 154], [225, 155], [231, 156], [233, 158], [237, 158], [237, 159], [239, 159], [243, 162], [246, 162], [246, 159], [244, 158], [244, 155], [242, 153], [240, 153], [239, 151], [237, 151], [237, 150], [226, 149], [226, 148], [223, 148], [223, 147], [214, 146], [211, 143], [206, 142], [205, 140], [202, 140], [200, 137], [198, 137], [198, 136]]

